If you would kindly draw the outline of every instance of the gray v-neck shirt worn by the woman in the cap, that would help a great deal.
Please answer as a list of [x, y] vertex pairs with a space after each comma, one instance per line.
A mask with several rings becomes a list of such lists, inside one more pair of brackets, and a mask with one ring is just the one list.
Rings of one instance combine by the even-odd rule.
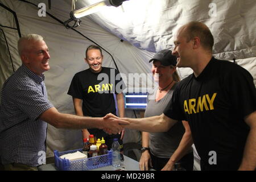
[[[163, 114], [164, 109], [171, 101], [172, 94], [177, 83], [172, 86], [166, 96], [161, 100], [155, 101], [155, 95], [158, 88], [148, 93], [147, 109], [145, 117]], [[151, 154], [158, 158], [170, 158], [174, 151], [179, 146], [180, 140], [185, 132], [184, 126], [181, 121], [177, 122], [171, 129], [164, 133], [150, 133], [149, 148]], [[192, 151], [192, 150], [191, 150]]]

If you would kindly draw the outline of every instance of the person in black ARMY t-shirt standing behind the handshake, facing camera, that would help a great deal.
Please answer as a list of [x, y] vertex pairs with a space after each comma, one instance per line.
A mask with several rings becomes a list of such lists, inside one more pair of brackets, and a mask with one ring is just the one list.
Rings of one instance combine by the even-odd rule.
[[[73, 77], [68, 94], [73, 97], [73, 104], [77, 115], [89, 117], [104, 117], [108, 113], [116, 114], [114, 95], [117, 97], [119, 117], [124, 117], [125, 106], [122, 90], [125, 84], [114, 68], [102, 67], [102, 51], [98, 46], [91, 45], [86, 49], [85, 61], [89, 68], [76, 73]], [[104, 137], [108, 150], [112, 147], [113, 139], [118, 138], [121, 151], [121, 134], [108, 135], [100, 129], [83, 129], [82, 138], [89, 138], [90, 134], [97, 139]]]

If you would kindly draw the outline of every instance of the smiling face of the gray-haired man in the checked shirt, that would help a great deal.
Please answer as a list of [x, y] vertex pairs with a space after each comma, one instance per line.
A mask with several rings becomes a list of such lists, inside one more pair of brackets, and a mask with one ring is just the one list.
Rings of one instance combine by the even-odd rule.
[[46, 43], [42, 41], [29, 40], [27, 41], [28, 46], [22, 52], [21, 59], [23, 64], [28, 69], [37, 75], [42, 75], [43, 72], [48, 71], [49, 67], [49, 49]]

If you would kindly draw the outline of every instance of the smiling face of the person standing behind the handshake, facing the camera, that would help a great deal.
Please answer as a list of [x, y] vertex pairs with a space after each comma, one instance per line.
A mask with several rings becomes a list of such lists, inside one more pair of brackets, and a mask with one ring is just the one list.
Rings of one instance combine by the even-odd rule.
[[101, 72], [102, 58], [100, 50], [89, 49], [86, 53], [85, 61], [88, 63], [90, 70], [94, 73]]

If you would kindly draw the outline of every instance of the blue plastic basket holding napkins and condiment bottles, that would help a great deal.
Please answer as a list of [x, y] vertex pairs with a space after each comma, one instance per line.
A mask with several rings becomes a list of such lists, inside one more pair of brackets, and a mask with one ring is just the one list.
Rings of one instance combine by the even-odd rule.
[[61, 155], [74, 153], [77, 151], [82, 152], [82, 149], [65, 152], [59, 152], [57, 150], [53, 151], [55, 157], [55, 166], [57, 169], [61, 171], [86, 171], [112, 165], [112, 150], [108, 151], [108, 154], [106, 155], [100, 155], [87, 159], [68, 160], [60, 158]]

